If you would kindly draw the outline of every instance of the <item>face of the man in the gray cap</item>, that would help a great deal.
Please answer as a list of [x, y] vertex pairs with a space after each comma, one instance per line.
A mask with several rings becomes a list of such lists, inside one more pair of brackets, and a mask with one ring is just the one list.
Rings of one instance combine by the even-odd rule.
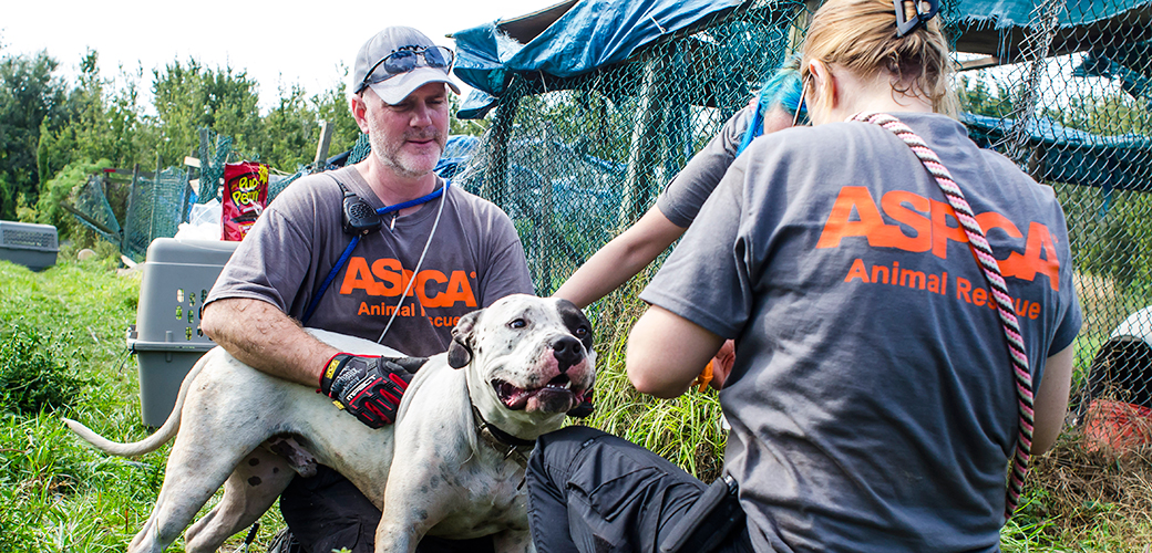
[[403, 101], [387, 105], [364, 93], [364, 124], [372, 154], [403, 177], [427, 175], [435, 168], [448, 140], [448, 91], [429, 83]]

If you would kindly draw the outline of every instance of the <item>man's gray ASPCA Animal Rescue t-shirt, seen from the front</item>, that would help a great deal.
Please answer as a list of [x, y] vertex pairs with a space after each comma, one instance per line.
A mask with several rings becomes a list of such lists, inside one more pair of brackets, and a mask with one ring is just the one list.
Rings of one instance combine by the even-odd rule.
[[[353, 238], [342, 230], [343, 192], [334, 178], [373, 208], [384, 207], [355, 167], [293, 183], [233, 254], [207, 302], [258, 299], [303, 318]], [[384, 215], [384, 226], [361, 238], [306, 325], [376, 341], [399, 309], [384, 344], [409, 355], [434, 355], [448, 348], [462, 315], [505, 295], [533, 292], [511, 221], [457, 186], [448, 187], [435, 236], [414, 275], [440, 203], [433, 199], [397, 217], [394, 226]]]

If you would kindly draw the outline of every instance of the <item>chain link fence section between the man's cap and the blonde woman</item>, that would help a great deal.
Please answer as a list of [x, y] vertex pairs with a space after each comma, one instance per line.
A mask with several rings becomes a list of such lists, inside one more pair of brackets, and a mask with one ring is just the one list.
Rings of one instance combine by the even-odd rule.
[[649, 209], [797, 46], [801, 2], [727, 10], [570, 78], [514, 74], [457, 182], [513, 217], [550, 294]]

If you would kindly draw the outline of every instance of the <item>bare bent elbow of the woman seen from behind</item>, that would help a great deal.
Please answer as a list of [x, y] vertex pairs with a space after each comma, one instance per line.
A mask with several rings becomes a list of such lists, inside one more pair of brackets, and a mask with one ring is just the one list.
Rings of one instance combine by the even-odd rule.
[[[658, 398], [684, 393], [723, 338], [660, 306], [651, 306], [628, 335], [628, 379]], [[727, 375], [726, 375], [727, 376]]]

